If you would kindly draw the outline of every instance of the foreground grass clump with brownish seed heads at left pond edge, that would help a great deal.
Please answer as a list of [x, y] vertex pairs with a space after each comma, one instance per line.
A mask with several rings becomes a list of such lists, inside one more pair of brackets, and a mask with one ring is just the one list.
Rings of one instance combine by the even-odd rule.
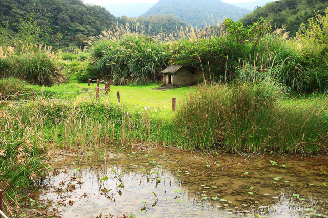
[[4, 191], [3, 211], [11, 214], [19, 195], [43, 177], [46, 164], [37, 133], [22, 123], [22, 117], [10, 116], [8, 107], [12, 106], [0, 103], [0, 189]]

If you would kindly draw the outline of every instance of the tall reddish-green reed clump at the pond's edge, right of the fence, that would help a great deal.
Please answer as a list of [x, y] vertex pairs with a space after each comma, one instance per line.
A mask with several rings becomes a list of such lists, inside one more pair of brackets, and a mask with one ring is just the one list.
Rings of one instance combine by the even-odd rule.
[[189, 147], [227, 152], [325, 152], [328, 98], [284, 106], [279, 85], [202, 86], [181, 103], [176, 123]]

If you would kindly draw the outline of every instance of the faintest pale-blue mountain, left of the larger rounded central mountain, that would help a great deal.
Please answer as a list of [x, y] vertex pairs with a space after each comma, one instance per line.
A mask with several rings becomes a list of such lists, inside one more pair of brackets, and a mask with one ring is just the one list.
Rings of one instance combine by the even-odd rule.
[[104, 5], [115, 17], [139, 17], [150, 9], [155, 3], [118, 3]]

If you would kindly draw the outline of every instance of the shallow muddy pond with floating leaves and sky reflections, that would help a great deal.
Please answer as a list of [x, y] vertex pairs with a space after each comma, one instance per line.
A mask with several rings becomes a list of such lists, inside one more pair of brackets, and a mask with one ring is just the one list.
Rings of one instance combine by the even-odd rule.
[[68, 157], [54, 165], [34, 209], [61, 217], [328, 217], [327, 164], [326, 156], [172, 150], [109, 154], [106, 164]]

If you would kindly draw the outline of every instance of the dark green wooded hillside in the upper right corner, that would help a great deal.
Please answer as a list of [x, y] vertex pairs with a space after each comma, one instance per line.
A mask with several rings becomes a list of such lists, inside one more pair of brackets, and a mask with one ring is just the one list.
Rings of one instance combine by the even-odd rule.
[[309, 18], [315, 16], [315, 11], [324, 14], [327, 7], [327, 0], [278, 0], [255, 9], [240, 21], [244, 25], [251, 25], [263, 17], [272, 20], [273, 26], [281, 28], [284, 25], [286, 31], [290, 31], [290, 36], [295, 36], [302, 23], [307, 23]]

